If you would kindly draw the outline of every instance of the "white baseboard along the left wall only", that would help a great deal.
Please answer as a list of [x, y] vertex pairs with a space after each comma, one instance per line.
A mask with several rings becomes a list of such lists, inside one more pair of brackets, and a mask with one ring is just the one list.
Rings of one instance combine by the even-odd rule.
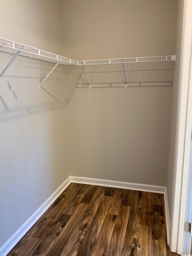
[[4, 243], [0, 248], [0, 255], [5, 256], [16, 245], [17, 242], [27, 233], [35, 222], [43, 215], [49, 206], [57, 199], [71, 183], [70, 176], [53, 192], [53, 194], [31, 215], [31, 217]]

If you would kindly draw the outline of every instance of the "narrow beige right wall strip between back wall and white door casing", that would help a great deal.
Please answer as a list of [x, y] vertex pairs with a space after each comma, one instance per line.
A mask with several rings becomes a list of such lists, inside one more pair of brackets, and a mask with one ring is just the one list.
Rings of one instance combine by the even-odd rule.
[[171, 122], [169, 134], [169, 161], [167, 169], [167, 197], [169, 212], [172, 212], [173, 200], [173, 183], [174, 183], [174, 157], [175, 157], [175, 143], [176, 143], [176, 125], [177, 125], [177, 111], [178, 111], [178, 94], [179, 94], [179, 72], [181, 59], [181, 44], [182, 44], [182, 25], [183, 25], [183, 6], [184, 1], [178, 2], [178, 18], [177, 18], [177, 33], [176, 33], [176, 53], [177, 62], [175, 66], [175, 74], [173, 80], [173, 96], [171, 107]]

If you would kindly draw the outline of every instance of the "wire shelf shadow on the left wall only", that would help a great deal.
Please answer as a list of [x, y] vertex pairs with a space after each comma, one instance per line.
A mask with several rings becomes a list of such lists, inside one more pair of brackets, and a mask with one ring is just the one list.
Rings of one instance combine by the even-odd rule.
[[[12, 56], [0, 53], [0, 72]], [[39, 84], [55, 66], [54, 63], [18, 56], [0, 79], [1, 121], [64, 108], [66, 92], [64, 67], [59, 65], [43, 83]]]

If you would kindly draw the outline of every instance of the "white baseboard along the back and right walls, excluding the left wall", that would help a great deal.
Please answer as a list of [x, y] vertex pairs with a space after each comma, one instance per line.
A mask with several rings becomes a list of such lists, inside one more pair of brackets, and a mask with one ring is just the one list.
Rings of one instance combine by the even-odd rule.
[[113, 187], [113, 188], [125, 188], [125, 189], [133, 189], [133, 190], [140, 190], [140, 191], [164, 194], [165, 219], [166, 219], [166, 228], [167, 228], [167, 244], [169, 245], [170, 217], [169, 217], [169, 207], [168, 207], [167, 188], [166, 187], [139, 184], [139, 183], [122, 182], [122, 181], [115, 181], [115, 180], [107, 180], [107, 179], [77, 177], [77, 176], [70, 176], [70, 180], [71, 180], [71, 182], [76, 182], [76, 183], [107, 186], [107, 187]]

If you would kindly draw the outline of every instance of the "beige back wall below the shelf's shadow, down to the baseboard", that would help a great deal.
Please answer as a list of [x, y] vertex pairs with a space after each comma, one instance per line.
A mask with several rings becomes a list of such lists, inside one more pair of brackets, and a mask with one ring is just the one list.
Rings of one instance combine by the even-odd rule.
[[166, 185], [171, 87], [74, 91], [70, 174]]

